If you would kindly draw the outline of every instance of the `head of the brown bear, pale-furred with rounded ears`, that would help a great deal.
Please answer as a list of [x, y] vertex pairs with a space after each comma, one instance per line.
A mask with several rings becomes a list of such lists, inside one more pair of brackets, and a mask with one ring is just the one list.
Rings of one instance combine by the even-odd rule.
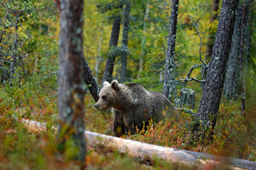
[[99, 111], [106, 111], [114, 106], [117, 98], [117, 90], [119, 89], [118, 81], [113, 80], [110, 84], [105, 81], [103, 83], [103, 88], [100, 90], [100, 99], [95, 104], [95, 108]]

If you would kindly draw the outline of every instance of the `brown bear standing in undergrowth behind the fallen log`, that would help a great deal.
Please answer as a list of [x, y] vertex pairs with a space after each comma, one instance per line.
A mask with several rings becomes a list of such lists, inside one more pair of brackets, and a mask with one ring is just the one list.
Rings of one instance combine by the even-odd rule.
[[124, 132], [136, 132], [149, 124], [164, 118], [178, 118], [176, 109], [163, 95], [155, 91], [146, 91], [141, 84], [119, 84], [117, 80], [105, 81], [100, 90], [100, 99], [95, 104], [99, 111], [112, 108], [114, 136], [120, 137]]

